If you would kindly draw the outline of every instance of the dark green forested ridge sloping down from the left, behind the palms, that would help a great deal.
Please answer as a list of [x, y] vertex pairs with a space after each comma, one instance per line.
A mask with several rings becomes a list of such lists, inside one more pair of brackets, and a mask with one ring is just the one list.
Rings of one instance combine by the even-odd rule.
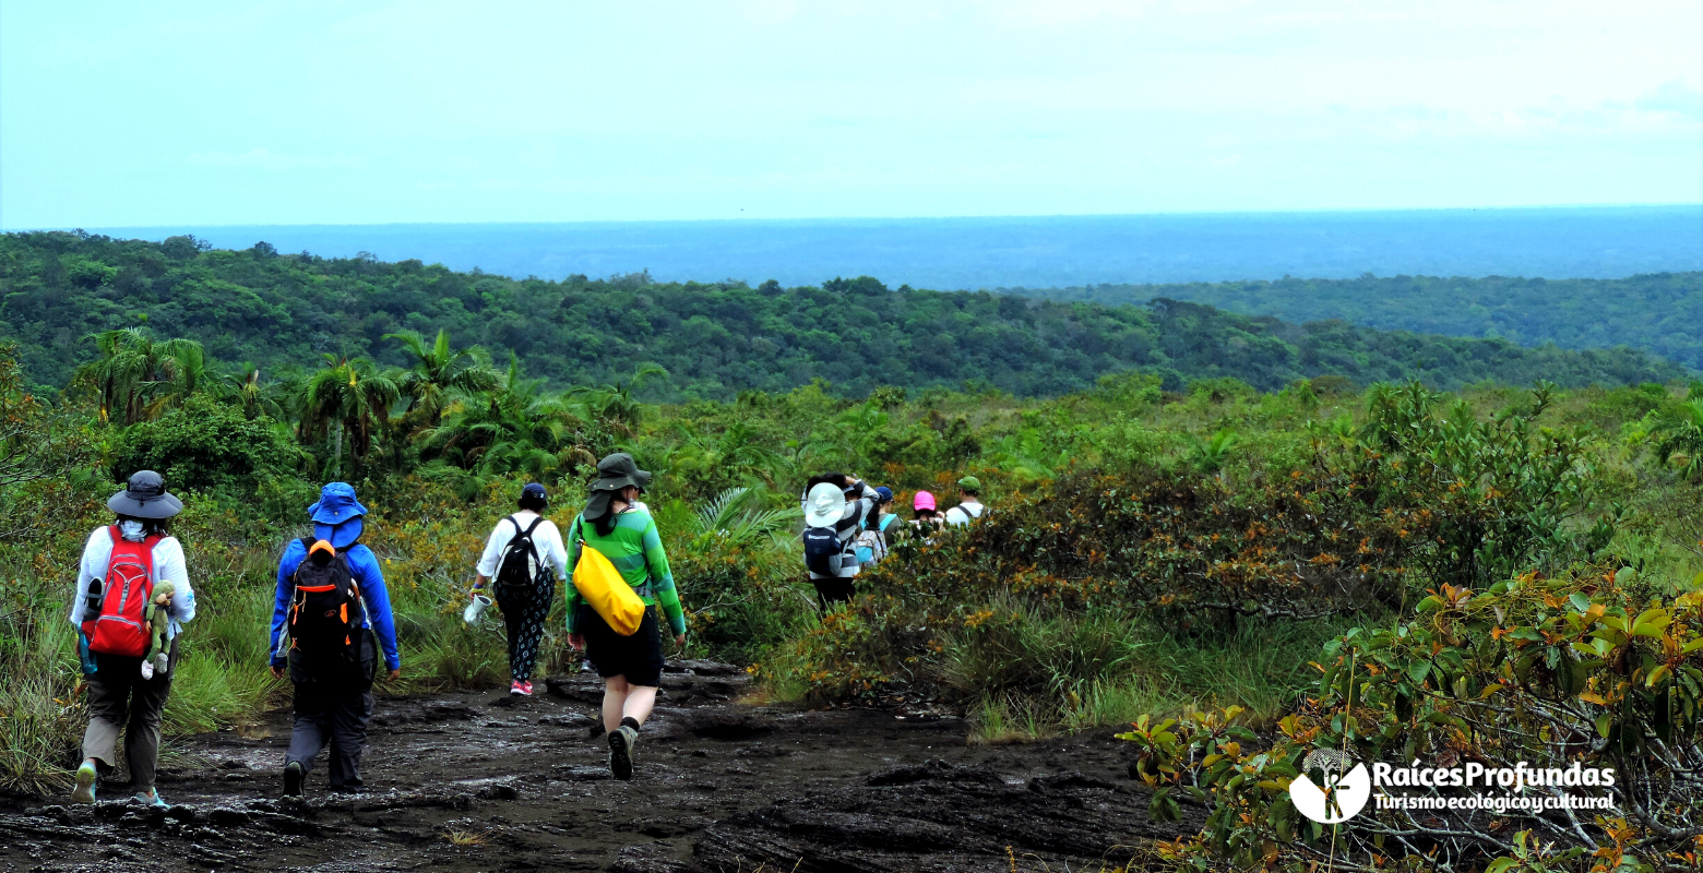
[[[1146, 303], [1146, 301], [1143, 301]], [[29, 379], [61, 386], [95, 357], [85, 337], [145, 327], [201, 344], [267, 378], [307, 378], [320, 354], [402, 366], [387, 335], [448, 330], [557, 386], [613, 385], [642, 364], [649, 400], [727, 400], [814, 379], [843, 397], [879, 386], [998, 388], [1018, 397], [1085, 390], [1144, 371], [1180, 390], [1233, 376], [1260, 390], [1333, 374], [1354, 385], [1420, 378], [1437, 388], [1546, 378], [1563, 386], [1667, 381], [1683, 368], [1630, 349], [1589, 352], [1507, 340], [1287, 323], [1196, 303], [1143, 306], [935, 293], [877, 279], [823, 286], [654, 282], [645, 274], [560, 282], [453, 272], [419, 260], [322, 259], [267, 243], [209, 250], [87, 233], [0, 237], [0, 339]]]

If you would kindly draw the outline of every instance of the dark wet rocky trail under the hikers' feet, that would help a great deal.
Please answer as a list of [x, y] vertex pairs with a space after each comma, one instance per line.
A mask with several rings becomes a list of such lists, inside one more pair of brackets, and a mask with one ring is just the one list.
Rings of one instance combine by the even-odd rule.
[[325, 791], [322, 756], [305, 798], [278, 796], [288, 711], [179, 739], [170, 808], [118, 800], [121, 783], [94, 807], [3, 802], [0, 870], [1093, 871], [1201, 825], [1189, 807], [1150, 822], [1110, 732], [967, 747], [928, 713], [749, 706], [748, 679], [710, 662], [671, 664], [620, 783], [601, 682], [548, 689], [380, 696], [359, 795]]

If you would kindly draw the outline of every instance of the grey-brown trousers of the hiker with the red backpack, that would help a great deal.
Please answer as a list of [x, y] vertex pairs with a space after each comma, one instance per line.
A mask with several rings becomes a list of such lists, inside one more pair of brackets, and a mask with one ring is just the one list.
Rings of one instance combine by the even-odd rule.
[[124, 764], [138, 791], [153, 788], [153, 767], [160, 757], [160, 715], [165, 696], [177, 676], [177, 640], [172, 640], [169, 669], [141, 677], [141, 659], [94, 653], [95, 672], [89, 677], [89, 730], [83, 732], [83, 757], [92, 757], [111, 771], [118, 766], [118, 735], [124, 733]]

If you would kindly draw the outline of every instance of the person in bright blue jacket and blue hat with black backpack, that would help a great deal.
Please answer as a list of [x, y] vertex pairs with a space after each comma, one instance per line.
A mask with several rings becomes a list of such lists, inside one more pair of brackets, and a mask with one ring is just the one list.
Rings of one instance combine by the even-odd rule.
[[[313, 536], [291, 539], [278, 562], [272, 676], [295, 686], [295, 727], [284, 754], [284, 795], [300, 796], [320, 749], [332, 791], [359, 791], [361, 750], [373, 718], [373, 676], [383, 647], [390, 681], [402, 676], [385, 573], [359, 543], [366, 507], [332, 482], [308, 507]], [[378, 636], [375, 645], [373, 636]]]

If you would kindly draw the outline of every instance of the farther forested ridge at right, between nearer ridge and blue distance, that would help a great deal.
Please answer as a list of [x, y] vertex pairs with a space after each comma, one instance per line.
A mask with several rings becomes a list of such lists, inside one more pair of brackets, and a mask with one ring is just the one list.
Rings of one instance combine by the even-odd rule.
[[1097, 284], [1001, 289], [1109, 306], [1175, 298], [1289, 322], [1342, 318], [1378, 330], [1500, 337], [1563, 349], [1630, 345], [1703, 369], [1703, 272], [1628, 279], [1362, 276], [1276, 282]]

